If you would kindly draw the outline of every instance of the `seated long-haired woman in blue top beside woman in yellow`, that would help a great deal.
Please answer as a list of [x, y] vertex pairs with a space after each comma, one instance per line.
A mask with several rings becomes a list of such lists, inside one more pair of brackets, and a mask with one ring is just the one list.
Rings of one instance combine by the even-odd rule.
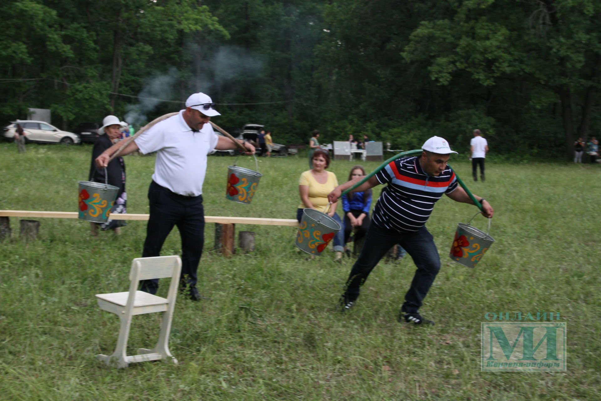
[[[365, 176], [365, 169], [355, 166], [350, 169], [349, 180]], [[347, 243], [350, 234], [355, 230], [355, 239], [359, 240], [365, 236], [370, 227], [371, 189], [364, 192], [349, 192], [342, 196], [342, 208], [344, 211], [344, 243]], [[350, 251], [346, 250], [347, 254]]]

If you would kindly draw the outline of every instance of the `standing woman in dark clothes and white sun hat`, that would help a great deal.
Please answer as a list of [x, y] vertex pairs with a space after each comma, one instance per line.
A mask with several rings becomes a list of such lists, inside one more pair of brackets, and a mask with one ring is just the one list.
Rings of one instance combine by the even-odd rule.
[[[115, 142], [121, 139], [121, 130], [123, 124], [119, 118], [114, 115], [107, 115], [102, 120], [102, 127], [98, 132], [101, 134], [92, 150], [92, 162], [90, 166], [90, 181], [108, 183], [109, 185], [119, 188], [117, 200], [111, 209], [111, 213], [126, 213], [127, 194], [125, 192], [125, 163], [123, 158], [118, 157], [113, 159], [105, 168], [97, 168], [94, 160], [102, 152], [111, 147]], [[105, 174], [106, 172], [106, 174]], [[105, 223], [90, 222], [90, 234], [94, 237], [98, 236], [98, 227], [102, 231], [113, 230], [115, 234], [120, 234], [120, 227], [126, 225], [124, 220], [109, 219]]]

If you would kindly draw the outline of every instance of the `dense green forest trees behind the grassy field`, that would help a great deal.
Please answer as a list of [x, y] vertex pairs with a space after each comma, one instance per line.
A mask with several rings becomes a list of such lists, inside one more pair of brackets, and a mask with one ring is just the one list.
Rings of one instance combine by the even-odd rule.
[[64, 129], [109, 113], [141, 124], [206, 91], [228, 104], [220, 125], [267, 124], [276, 142], [319, 128], [328, 142], [367, 133], [415, 148], [436, 134], [467, 147], [479, 128], [493, 152], [520, 158], [570, 155], [601, 125], [593, 0], [6, 0], [0, 11], [3, 121], [37, 107]]

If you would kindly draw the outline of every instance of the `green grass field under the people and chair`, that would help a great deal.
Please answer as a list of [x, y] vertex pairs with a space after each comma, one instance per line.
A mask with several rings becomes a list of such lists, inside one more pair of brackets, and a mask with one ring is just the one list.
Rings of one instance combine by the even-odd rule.
[[[0, 209], [75, 212], [90, 146], [0, 144]], [[459, 160], [459, 157], [462, 159]], [[227, 165], [212, 156], [204, 184], [209, 216], [294, 218], [297, 180], [307, 159], [260, 159], [263, 178], [251, 205], [225, 199]], [[466, 156], [451, 164], [495, 208], [496, 242], [475, 269], [451, 262], [457, 222], [477, 211], [444, 197], [428, 227], [442, 269], [422, 313], [433, 328], [397, 323], [415, 266], [380, 263], [347, 314], [337, 300], [352, 260], [316, 260], [294, 246], [295, 229], [237, 225], [257, 233], [256, 251], [225, 259], [207, 224], [200, 290], [212, 300], [178, 298], [171, 351], [179, 366], [137, 363], [109, 369], [118, 319], [94, 294], [126, 291], [141, 254], [145, 222], [90, 239], [78, 219], [40, 219], [37, 240], [0, 243], [1, 400], [598, 400], [601, 323], [597, 207], [599, 166], [487, 164], [474, 183]], [[154, 158], [127, 156], [129, 213], [147, 213]], [[251, 158], [238, 165], [254, 169]], [[344, 182], [353, 162], [330, 170]], [[366, 162], [368, 171], [379, 165]], [[379, 188], [376, 194], [379, 193]], [[485, 227], [486, 219], [474, 220]], [[163, 254], [180, 252], [177, 230]], [[163, 283], [159, 295], [164, 295]], [[487, 312], [560, 312], [567, 322], [567, 372], [480, 372], [480, 323]], [[151, 347], [156, 316], [135, 317], [130, 354]]]

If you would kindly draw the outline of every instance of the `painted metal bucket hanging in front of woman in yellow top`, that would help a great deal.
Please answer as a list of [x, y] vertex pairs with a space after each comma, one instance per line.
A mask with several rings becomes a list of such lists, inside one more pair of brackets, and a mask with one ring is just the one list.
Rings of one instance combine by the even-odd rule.
[[296, 246], [310, 255], [320, 255], [342, 227], [326, 213], [304, 209], [296, 234]]

